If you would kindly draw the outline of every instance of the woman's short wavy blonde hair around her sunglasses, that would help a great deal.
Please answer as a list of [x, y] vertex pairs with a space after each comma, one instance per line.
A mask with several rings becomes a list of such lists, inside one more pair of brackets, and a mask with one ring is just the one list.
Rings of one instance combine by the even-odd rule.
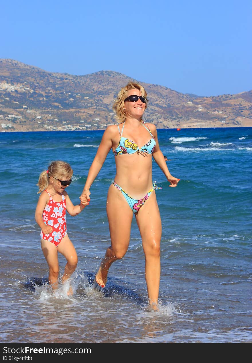
[[[113, 111], [116, 113], [116, 118], [118, 122], [125, 121], [127, 117], [127, 113], [124, 110], [124, 100], [126, 98], [126, 93], [132, 89], [139, 90], [141, 92], [141, 96], [143, 96], [144, 98], [147, 97], [146, 90], [138, 83], [129, 82], [125, 87], [122, 87], [117, 95], [117, 98], [114, 100], [115, 103], [113, 105]], [[147, 107], [147, 101], [148, 100], [146, 98], [145, 108]]]

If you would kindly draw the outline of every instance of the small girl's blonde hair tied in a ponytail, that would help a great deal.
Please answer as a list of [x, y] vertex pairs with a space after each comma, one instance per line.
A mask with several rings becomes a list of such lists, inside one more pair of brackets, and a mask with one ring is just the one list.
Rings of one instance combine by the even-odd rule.
[[42, 171], [42, 173], [39, 175], [38, 184], [36, 184], [39, 187], [39, 191], [37, 192], [37, 194], [41, 193], [48, 187], [50, 176], [60, 180], [62, 180], [62, 178], [66, 178], [66, 180], [69, 180], [72, 178], [72, 175], [73, 170], [68, 163], [61, 160], [51, 162], [48, 170]]

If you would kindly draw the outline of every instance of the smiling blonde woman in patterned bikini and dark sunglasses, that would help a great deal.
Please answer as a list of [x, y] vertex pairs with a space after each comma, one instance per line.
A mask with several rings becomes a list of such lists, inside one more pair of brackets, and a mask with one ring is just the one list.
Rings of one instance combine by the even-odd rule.
[[162, 228], [155, 186], [152, 184], [152, 156], [171, 183], [169, 187], [176, 187], [180, 179], [169, 173], [159, 148], [156, 127], [142, 120], [146, 106], [147, 93], [141, 85], [130, 82], [121, 88], [113, 106], [121, 123], [110, 125], [104, 131], [80, 200], [84, 205], [89, 202], [89, 189], [112, 148], [116, 176], [108, 190], [106, 207], [111, 246], [101, 262], [96, 282], [104, 287], [111, 264], [127, 252], [134, 213], [145, 254], [149, 305], [151, 309], [158, 310]]

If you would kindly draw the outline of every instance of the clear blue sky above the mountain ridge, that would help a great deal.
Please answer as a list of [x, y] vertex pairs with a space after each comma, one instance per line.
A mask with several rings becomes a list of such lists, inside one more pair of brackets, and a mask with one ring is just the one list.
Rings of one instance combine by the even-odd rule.
[[201, 96], [252, 89], [251, 0], [2, 1], [0, 58]]

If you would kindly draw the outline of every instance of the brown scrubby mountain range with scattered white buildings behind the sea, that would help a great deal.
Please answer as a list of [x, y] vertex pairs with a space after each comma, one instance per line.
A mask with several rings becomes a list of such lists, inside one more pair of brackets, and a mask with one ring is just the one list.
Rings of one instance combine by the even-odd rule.
[[113, 99], [129, 81], [146, 89], [144, 121], [158, 129], [252, 126], [252, 90], [199, 97], [110, 70], [76, 76], [0, 59], [0, 131], [105, 129], [117, 122]]

